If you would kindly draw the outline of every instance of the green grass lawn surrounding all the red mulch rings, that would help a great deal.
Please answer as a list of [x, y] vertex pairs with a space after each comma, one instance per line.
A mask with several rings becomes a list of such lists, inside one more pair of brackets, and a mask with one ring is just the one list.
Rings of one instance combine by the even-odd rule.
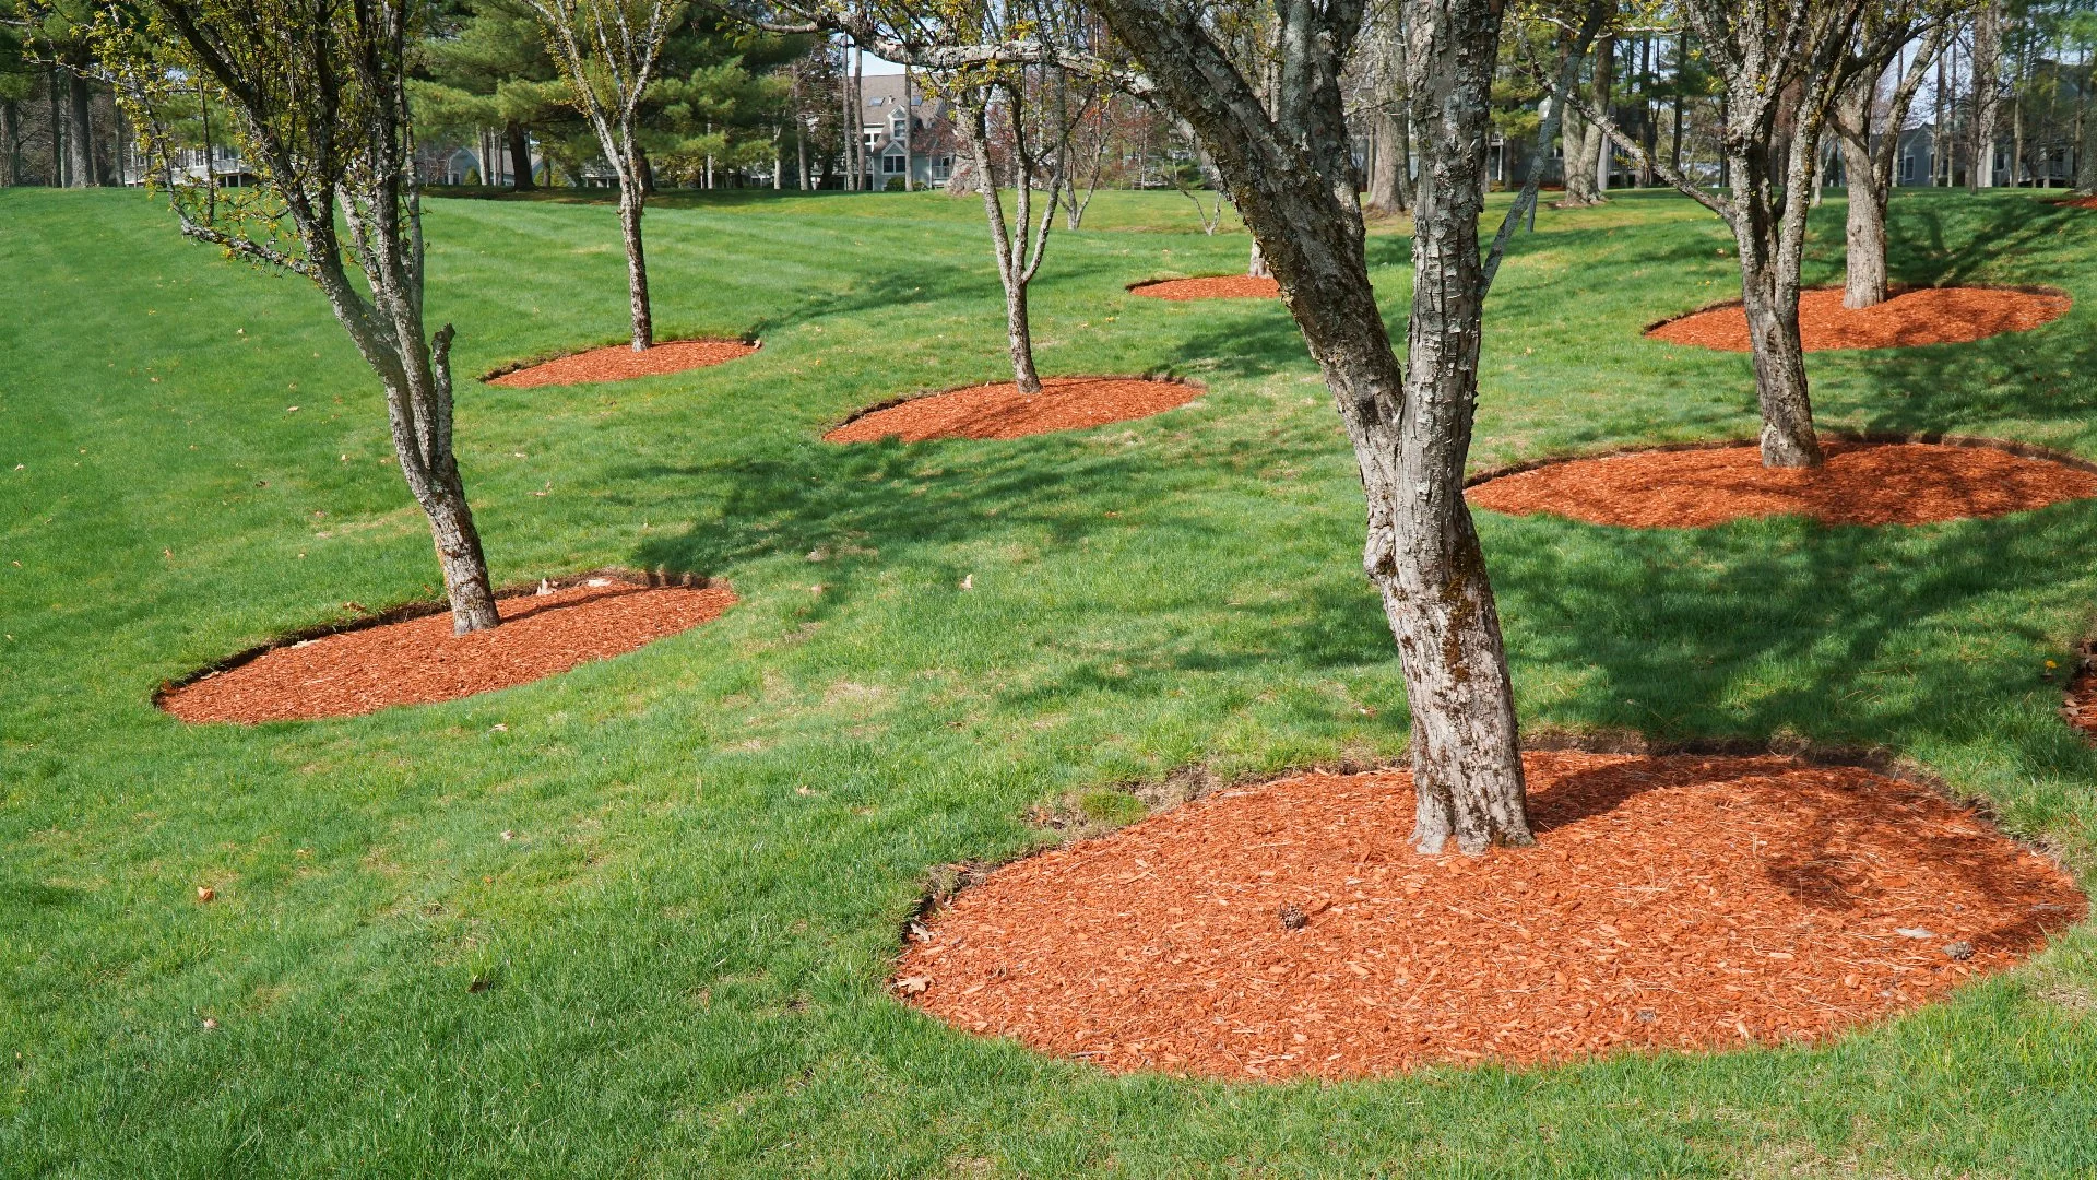
[[[373, 380], [310, 286], [147, 199], [0, 189], [0, 1174], [2097, 1172], [2089, 926], [1822, 1048], [1344, 1086], [1103, 1077], [889, 999], [927, 873], [1051, 840], [1036, 804], [1120, 821], [1101, 789], [1183, 764], [1403, 750], [1359, 483], [1288, 315], [1122, 290], [1248, 239], [1174, 193], [1095, 220], [1038, 283], [1044, 372], [1168, 370], [1199, 401], [841, 449], [816, 435], [853, 407], [1004, 372], [979, 204], [663, 202], [658, 332], [765, 349], [466, 382], [461, 464], [501, 582], [665, 565], [742, 605], [503, 693], [235, 729], [149, 693], [436, 580]], [[1900, 281], [2076, 309], [1816, 355], [1820, 420], [2097, 458], [2097, 214], [1904, 191], [1891, 225]], [[608, 206], [438, 199], [428, 231], [461, 374], [623, 336]], [[1407, 241], [1369, 250], [1403, 323]], [[1493, 292], [1472, 462], [1751, 435], [1745, 357], [1638, 334], [1732, 294], [1728, 254], [1676, 197], [1545, 212]], [[2091, 626], [2097, 502], [1480, 531], [1527, 726], [1883, 743], [2097, 869], [2097, 756], [2040, 678]]]

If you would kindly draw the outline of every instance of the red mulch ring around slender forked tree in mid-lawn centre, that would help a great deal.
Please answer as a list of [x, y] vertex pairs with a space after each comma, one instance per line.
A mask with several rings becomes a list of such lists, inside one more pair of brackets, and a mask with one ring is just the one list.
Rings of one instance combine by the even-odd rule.
[[862, 414], [830, 430], [826, 443], [872, 443], [895, 437], [1019, 439], [1048, 430], [1084, 430], [1149, 418], [1202, 397], [1202, 386], [1149, 378], [1044, 378], [1036, 395], [1013, 382], [950, 388]]

